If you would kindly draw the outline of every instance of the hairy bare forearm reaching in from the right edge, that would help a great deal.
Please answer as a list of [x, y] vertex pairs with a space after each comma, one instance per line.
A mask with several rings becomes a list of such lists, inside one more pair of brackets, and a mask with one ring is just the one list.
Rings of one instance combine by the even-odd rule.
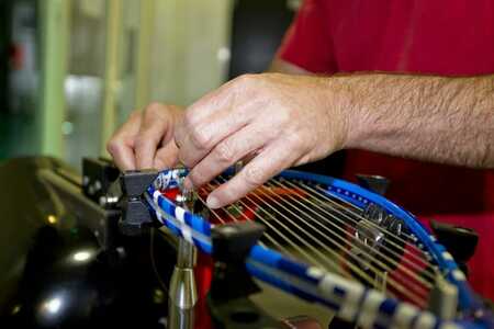
[[345, 148], [494, 168], [494, 77], [328, 78], [348, 117]]

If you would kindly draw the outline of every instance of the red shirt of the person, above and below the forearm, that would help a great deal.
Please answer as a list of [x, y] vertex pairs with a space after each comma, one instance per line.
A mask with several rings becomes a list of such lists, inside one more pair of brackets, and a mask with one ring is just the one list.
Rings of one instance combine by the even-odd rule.
[[[278, 56], [315, 73], [492, 75], [494, 1], [306, 0]], [[413, 213], [476, 227], [470, 281], [494, 298], [494, 265], [481, 266], [494, 259], [492, 171], [350, 150], [345, 178], [355, 173], [390, 178], [388, 196]]]

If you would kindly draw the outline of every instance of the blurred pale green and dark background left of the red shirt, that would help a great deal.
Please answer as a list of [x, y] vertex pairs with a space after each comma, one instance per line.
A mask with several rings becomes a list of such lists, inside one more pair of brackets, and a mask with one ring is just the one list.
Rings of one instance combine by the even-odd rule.
[[128, 113], [265, 70], [296, 0], [0, 0], [0, 159], [80, 169]]

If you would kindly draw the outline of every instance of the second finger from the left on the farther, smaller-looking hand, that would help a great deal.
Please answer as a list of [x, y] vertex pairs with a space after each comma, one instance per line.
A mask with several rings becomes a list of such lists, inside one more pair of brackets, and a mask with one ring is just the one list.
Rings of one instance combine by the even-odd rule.
[[137, 169], [153, 168], [158, 145], [171, 126], [171, 113], [165, 105], [151, 104], [146, 107], [134, 147]]

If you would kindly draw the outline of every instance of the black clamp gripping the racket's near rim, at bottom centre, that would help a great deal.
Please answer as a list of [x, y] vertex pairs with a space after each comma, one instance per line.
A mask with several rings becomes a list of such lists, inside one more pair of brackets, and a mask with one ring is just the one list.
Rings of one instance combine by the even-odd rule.
[[251, 220], [212, 229], [214, 273], [207, 305], [214, 328], [282, 328], [279, 321], [248, 299], [260, 288], [245, 262], [263, 231], [262, 225]]

